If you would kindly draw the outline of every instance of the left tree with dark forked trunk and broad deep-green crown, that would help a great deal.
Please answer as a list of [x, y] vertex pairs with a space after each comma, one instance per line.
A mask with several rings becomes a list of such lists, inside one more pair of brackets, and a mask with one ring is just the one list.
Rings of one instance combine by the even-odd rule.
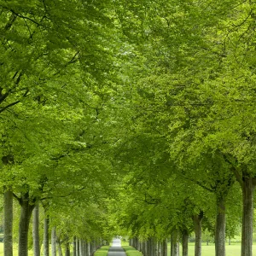
[[[44, 165], [47, 166], [51, 156], [61, 152], [59, 146], [66, 141], [63, 130], [52, 129], [56, 127], [54, 120], [58, 119], [58, 125], [63, 122], [62, 128], [64, 123], [70, 125], [68, 119], [72, 115], [73, 118], [78, 116], [75, 113], [80, 106], [78, 93], [84, 102], [85, 86], [96, 83], [96, 80], [103, 83], [106, 78], [110, 67], [107, 44], [111, 33], [102, 26], [108, 27], [111, 18], [109, 5], [103, 2], [21, 2], [0, 3], [3, 81], [0, 87], [4, 120], [2, 142], [9, 145], [5, 151], [15, 153], [16, 171], [12, 173], [15, 177], [12, 184], [21, 207], [19, 255], [26, 255], [32, 209], [44, 194], [49, 179], [49, 168], [45, 170]], [[83, 74], [79, 72], [81, 70]], [[48, 121], [51, 119], [49, 126], [43, 117]], [[43, 125], [46, 126], [43, 128]], [[12, 127], [15, 127], [15, 132], [17, 129], [21, 132], [12, 133], [9, 131]], [[58, 138], [61, 142], [54, 146], [52, 138], [57, 134], [62, 135]], [[64, 151], [67, 154], [69, 150]], [[38, 172], [34, 172], [35, 169]]]

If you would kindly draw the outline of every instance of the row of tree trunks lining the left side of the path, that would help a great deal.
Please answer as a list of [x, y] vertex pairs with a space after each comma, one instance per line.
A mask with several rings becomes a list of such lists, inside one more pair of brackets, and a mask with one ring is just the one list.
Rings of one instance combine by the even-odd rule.
[[[24, 210], [26, 207], [21, 207], [20, 212], [20, 227], [19, 227], [19, 256], [27, 256], [27, 238], [30, 216], [32, 214], [32, 238], [33, 238], [33, 254], [40, 256], [41, 244], [39, 239], [39, 207], [38, 204], [30, 207], [29, 211]], [[25, 212], [25, 213], [24, 213]], [[28, 213], [27, 213], [28, 212]], [[26, 214], [27, 213], [27, 214]], [[25, 217], [26, 218], [25, 218]], [[24, 221], [24, 219], [26, 221]], [[4, 256], [13, 256], [13, 193], [7, 190], [4, 193]], [[50, 239], [50, 240], [49, 240]], [[71, 256], [71, 245], [73, 245], [73, 256], [92, 256], [96, 250], [102, 246], [102, 239], [96, 241], [84, 241], [77, 237], [73, 237], [73, 242], [68, 236], [60, 238], [57, 236], [55, 227], [51, 230], [49, 236], [49, 218], [44, 218], [44, 256], [49, 256], [49, 244], [51, 244], [51, 255], [56, 256]], [[65, 254], [62, 250], [65, 250]]]

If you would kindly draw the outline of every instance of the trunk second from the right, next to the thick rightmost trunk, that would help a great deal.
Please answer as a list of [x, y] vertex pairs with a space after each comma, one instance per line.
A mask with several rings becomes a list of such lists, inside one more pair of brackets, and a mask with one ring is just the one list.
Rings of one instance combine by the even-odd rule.
[[224, 197], [217, 199], [217, 215], [215, 226], [215, 256], [225, 256], [225, 232], [226, 232], [226, 218]]

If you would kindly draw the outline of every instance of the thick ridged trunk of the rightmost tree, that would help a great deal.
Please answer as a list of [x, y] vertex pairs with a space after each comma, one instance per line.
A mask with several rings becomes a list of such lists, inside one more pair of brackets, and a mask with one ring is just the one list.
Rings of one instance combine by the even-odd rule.
[[253, 177], [243, 177], [241, 255], [253, 256]]

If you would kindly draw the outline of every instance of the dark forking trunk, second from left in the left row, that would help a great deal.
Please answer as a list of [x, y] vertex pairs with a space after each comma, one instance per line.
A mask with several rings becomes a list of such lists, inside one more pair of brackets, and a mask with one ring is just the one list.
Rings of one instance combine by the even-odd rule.
[[27, 256], [27, 238], [30, 218], [35, 205], [29, 201], [28, 192], [20, 199], [19, 256]]

